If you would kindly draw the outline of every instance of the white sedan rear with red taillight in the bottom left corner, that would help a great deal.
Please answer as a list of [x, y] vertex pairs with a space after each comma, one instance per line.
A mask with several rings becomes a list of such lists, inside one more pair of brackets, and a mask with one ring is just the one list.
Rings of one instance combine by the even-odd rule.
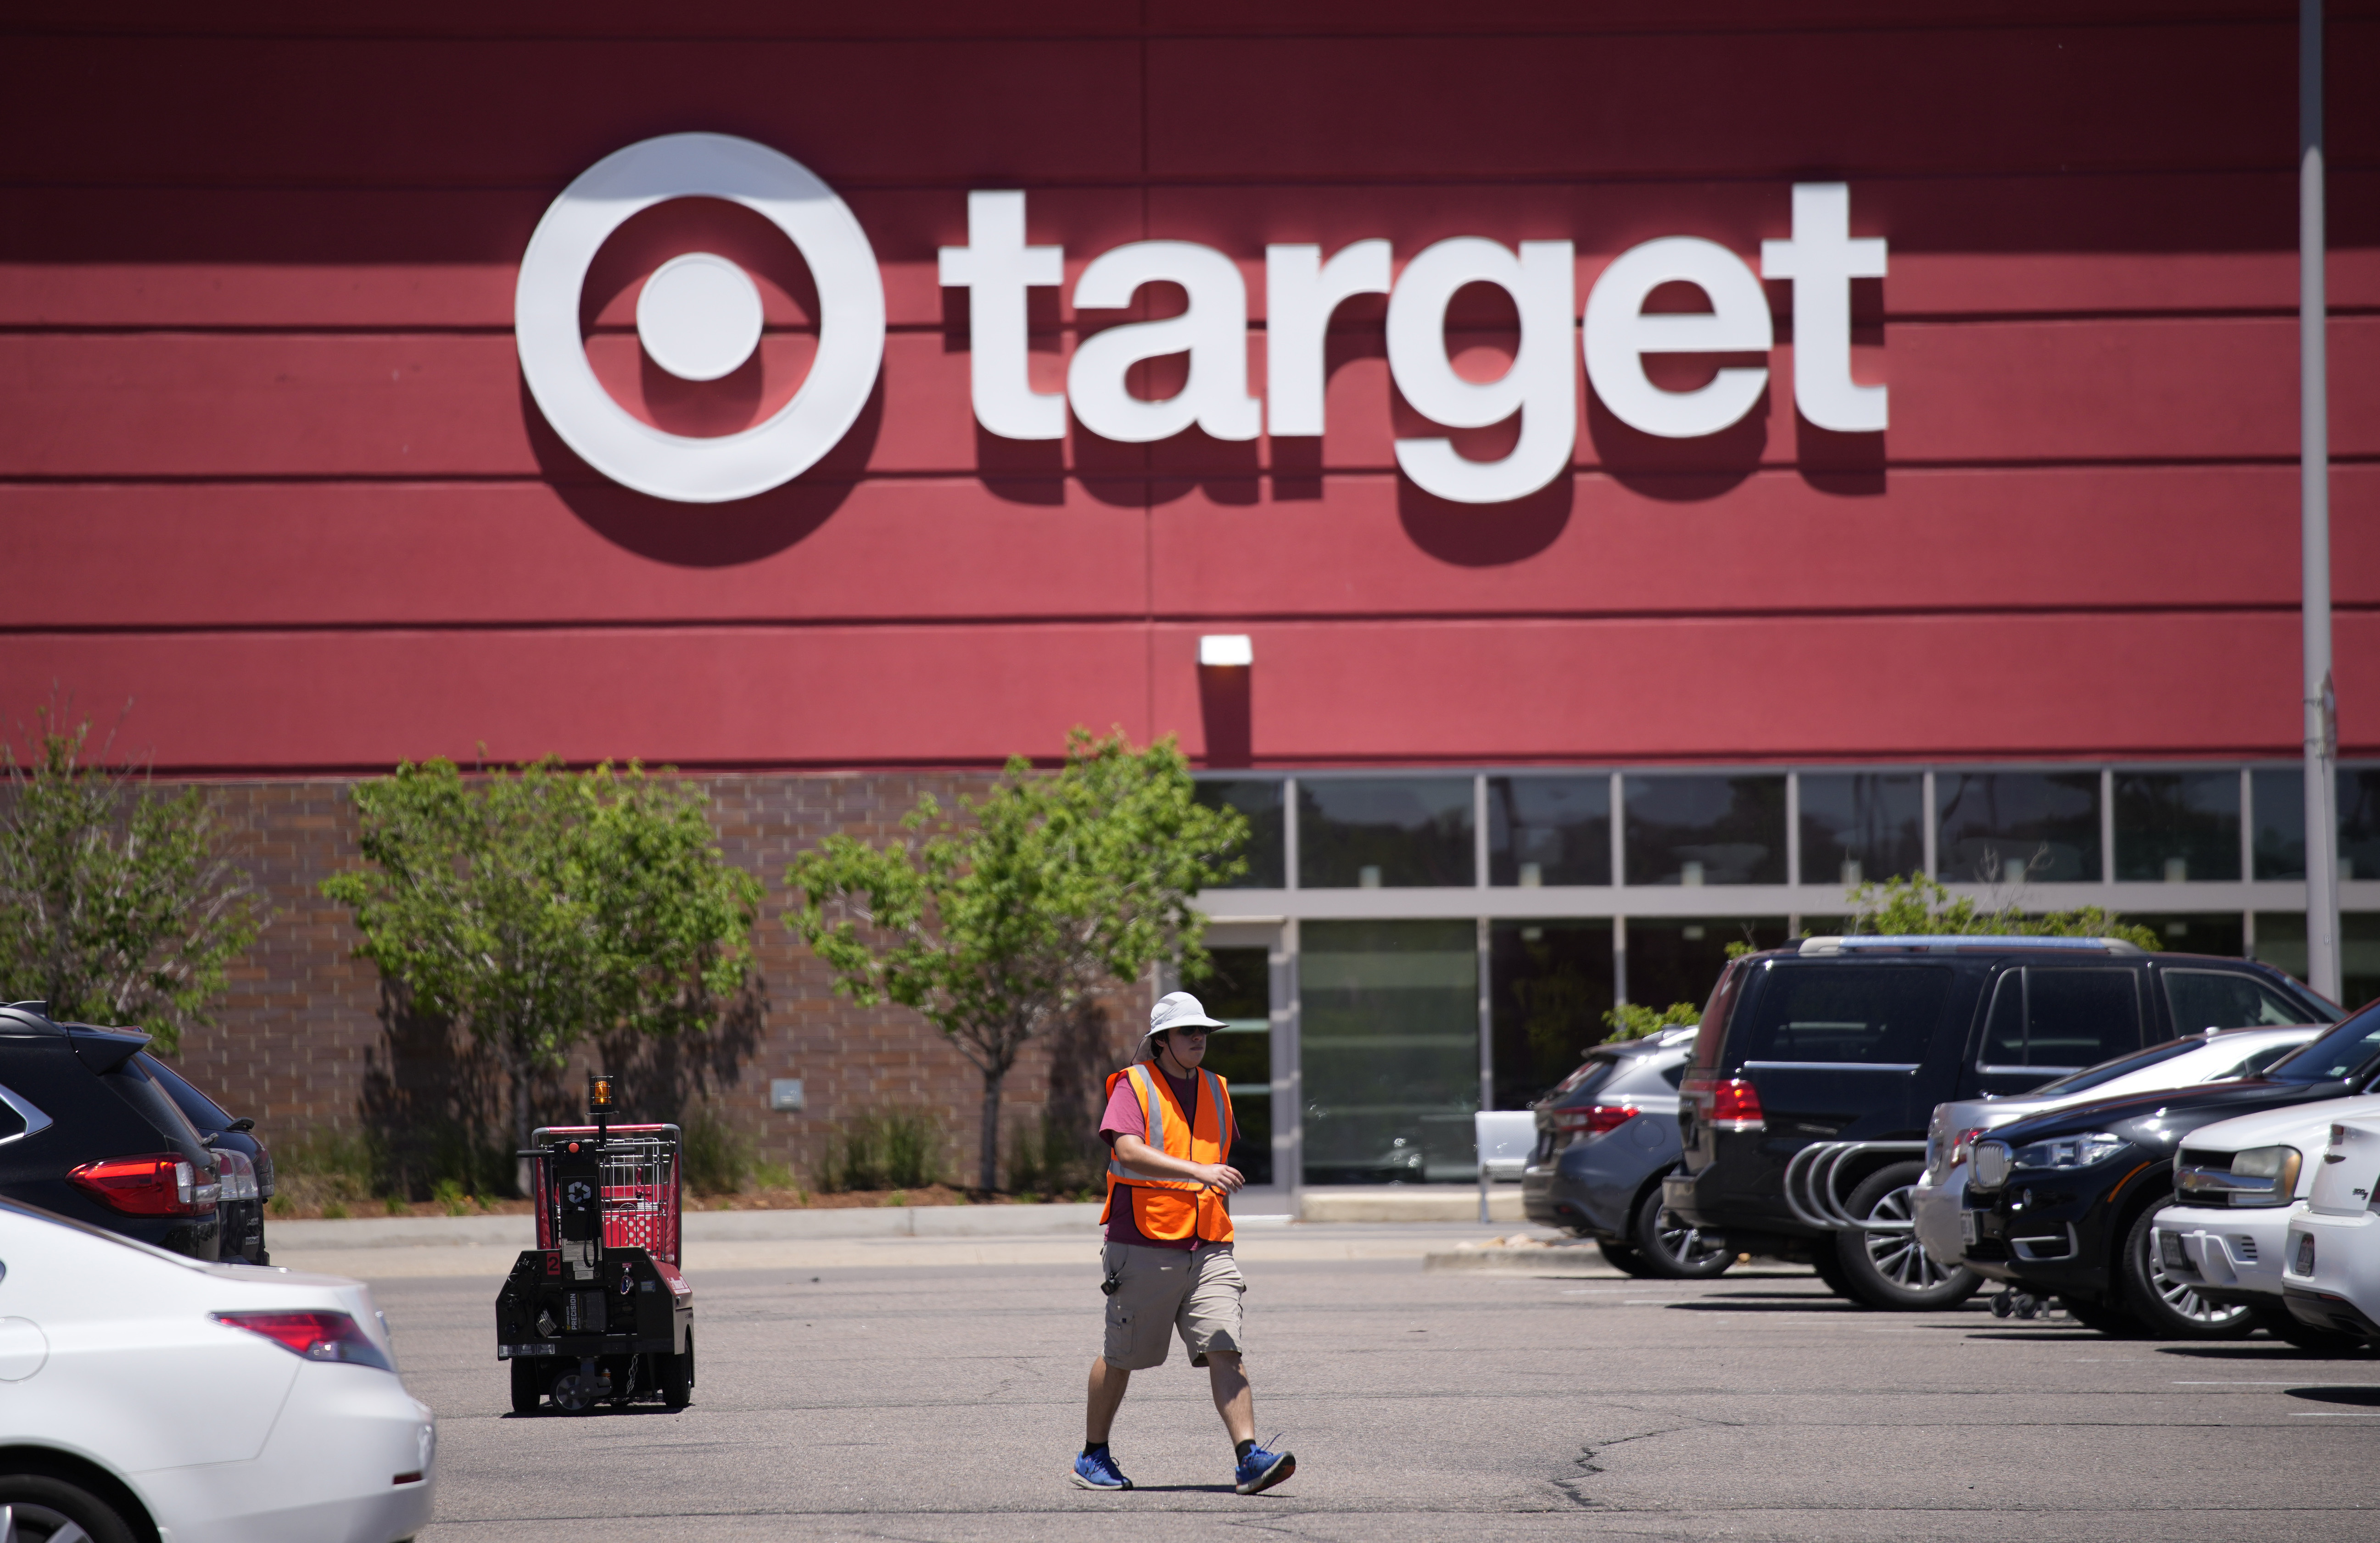
[[359, 1281], [0, 1200], [0, 1538], [397, 1543], [436, 1443]]

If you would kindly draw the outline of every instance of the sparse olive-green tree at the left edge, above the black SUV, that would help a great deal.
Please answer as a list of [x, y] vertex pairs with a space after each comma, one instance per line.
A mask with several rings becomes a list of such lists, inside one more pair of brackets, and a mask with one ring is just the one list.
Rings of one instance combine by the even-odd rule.
[[0, 1000], [67, 1022], [133, 1024], [176, 1050], [214, 1022], [231, 962], [267, 907], [221, 855], [198, 788], [159, 795], [90, 750], [90, 721], [36, 712], [19, 760], [0, 743]]

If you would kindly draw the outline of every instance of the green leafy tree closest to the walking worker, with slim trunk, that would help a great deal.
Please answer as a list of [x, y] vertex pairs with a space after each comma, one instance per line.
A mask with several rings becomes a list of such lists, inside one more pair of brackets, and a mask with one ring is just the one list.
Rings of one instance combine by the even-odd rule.
[[862, 1005], [914, 1007], [983, 1074], [978, 1183], [997, 1186], [1000, 1088], [1019, 1050], [1107, 981], [1207, 969], [1202, 888], [1247, 869], [1247, 822], [1195, 800], [1173, 741], [1076, 729], [1066, 762], [1016, 757], [947, 817], [933, 795], [873, 848], [828, 836], [788, 869], [785, 922]]

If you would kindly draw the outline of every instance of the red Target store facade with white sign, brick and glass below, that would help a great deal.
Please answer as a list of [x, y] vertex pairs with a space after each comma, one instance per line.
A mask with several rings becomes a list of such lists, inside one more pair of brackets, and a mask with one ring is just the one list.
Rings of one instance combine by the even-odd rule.
[[[1176, 736], [1257, 826], [1207, 910], [1273, 1186], [1468, 1174], [1604, 1007], [1859, 879], [2301, 967], [2294, 7], [7, 31], [0, 681], [131, 702], [236, 829], [281, 914], [186, 1062], [269, 1129], [469, 1119], [314, 893], [431, 755], [681, 767], [781, 895]], [[2328, 50], [2363, 998], [2380, 12]], [[776, 902], [762, 964], [709, 1095], [769, 1155], [971, 1145]]]

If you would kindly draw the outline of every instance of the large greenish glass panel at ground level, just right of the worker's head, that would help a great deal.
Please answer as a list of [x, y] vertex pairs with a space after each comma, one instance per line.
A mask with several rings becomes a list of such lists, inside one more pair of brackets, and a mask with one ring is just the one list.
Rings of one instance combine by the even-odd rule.
[[1476, 924], [1307, 922], [1297, 993], [1304, 1181], [1476, 1181]]

